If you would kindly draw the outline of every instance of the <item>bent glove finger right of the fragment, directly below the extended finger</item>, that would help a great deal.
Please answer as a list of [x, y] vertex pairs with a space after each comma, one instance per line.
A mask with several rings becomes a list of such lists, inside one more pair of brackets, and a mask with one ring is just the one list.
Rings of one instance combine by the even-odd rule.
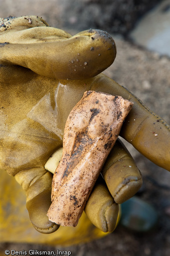
[[142, 185], [141, 174], [119, 139], [104, 164], [102, 175], [108, 190], [118, 204], [132, 197]]

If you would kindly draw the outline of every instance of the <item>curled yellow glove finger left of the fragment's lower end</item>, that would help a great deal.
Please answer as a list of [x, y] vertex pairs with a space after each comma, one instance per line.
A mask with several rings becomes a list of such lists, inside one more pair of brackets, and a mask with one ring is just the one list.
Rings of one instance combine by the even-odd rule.
[[49, 221], [47, 211], [51, 205], [52, 174], [44, 168], [33, 168], [15, 175], [27, 195], [27, 209], [36, 230], [52, 233], [59, 225]]

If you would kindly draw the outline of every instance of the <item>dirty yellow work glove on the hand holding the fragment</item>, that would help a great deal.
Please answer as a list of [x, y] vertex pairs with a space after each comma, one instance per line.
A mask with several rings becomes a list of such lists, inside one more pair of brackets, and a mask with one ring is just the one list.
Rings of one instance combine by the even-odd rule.
[[[89, 30], [72, 37], [39, 17], [9, 17], [0, 18], [0, 42], [0, 169], [15, 176], [26, 191], [27, 209], [38, 231], [51, 233], [59, 227], [46, 215], [52, 172], [61, 159], [67, 116], [86, 90], [133, 101], [121, 136], [170, 171], [168, 124], [126, 88], [99, 74], [116, 56], [107, 33]], [[87, 202], [87, 216], [103, 231], [113, 230], [118, 204], [141, 184], [132, 157], [117, 140]]]

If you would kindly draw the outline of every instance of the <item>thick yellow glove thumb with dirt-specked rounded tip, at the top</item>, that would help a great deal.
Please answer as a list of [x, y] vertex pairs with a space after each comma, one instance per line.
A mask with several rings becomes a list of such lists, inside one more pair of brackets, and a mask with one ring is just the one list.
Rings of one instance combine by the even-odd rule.
[[20, 65], [50, 78], [84, 79], [99, 74], [115, 59], [115, 43], [106, 32], [89, 30], [70, 37], [48, 25], [44, 27], [42, 21], [43, 27], [22, 31], [27, 19], [33, 22], [36, 18], [20, 17], [18, 23], [17, 19], [13, 19], [15, 30], [8, 33], [7, 29], [0, 35], [0, 62], [4, 65]]

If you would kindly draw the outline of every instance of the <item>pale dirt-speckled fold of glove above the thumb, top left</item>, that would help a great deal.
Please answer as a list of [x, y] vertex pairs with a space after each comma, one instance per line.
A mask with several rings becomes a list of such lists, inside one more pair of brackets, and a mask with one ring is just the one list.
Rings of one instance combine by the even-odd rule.
[[48, 41], [54, 41], [71, 37], [69, 33], [61, 29], [50, 27], [45, 20], [38, 16], [0, 18], [0, 25], [1, 43], [40, 43], [47, 38]]

